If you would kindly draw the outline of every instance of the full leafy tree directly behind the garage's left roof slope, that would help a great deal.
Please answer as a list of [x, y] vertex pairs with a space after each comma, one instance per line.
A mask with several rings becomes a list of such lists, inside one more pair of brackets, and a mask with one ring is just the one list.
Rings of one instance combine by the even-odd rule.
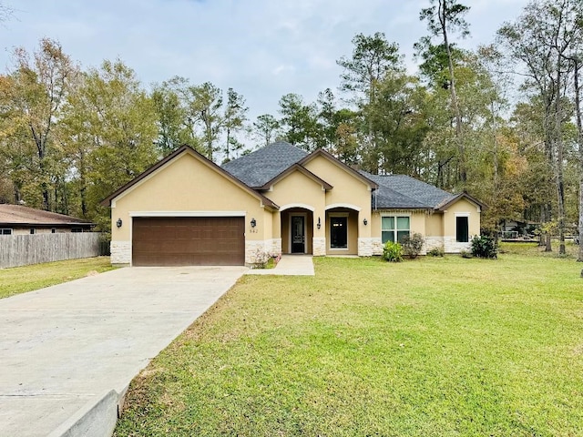
[[[81, 186], [87, 184], [87, 216], [101, 229], [109, 227], [109, 212], [99, 202], [159, 158], [156, 118], [135, 72], [120, 60], [89, 69], [70, 100], [64, 118], [66, 147], [74, 175]], [[85, 182], [80, 179], [82, 166]]]

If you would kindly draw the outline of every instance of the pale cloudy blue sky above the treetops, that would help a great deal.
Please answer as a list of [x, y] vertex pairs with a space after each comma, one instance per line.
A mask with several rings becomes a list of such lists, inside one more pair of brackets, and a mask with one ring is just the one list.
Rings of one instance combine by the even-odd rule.
[[[465, 0], [473, 48], [494, 41], [527, 0]], [[149, 88], [173, 76], [211, 82], [245, 97], [249, 117], [278, 116], [278, 101], [306, 103], [340, 85], [336, 60], [350, 57], [356, 34], [384, 32], [414, 70], [413, 45], [427, 35], [419, 12], [429, 0], [0, 0], [14, 15], [0, 24], [0, 71], [11, 52], [57, 40], [83, 68], [121, 59]]]

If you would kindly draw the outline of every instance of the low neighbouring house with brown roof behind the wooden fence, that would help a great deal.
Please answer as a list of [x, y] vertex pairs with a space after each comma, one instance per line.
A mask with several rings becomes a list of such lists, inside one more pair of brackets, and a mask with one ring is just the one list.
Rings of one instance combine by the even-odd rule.
[[0, 204], [0, 235], [89, 232], [95, 225], [84, 219], [56, 212]]

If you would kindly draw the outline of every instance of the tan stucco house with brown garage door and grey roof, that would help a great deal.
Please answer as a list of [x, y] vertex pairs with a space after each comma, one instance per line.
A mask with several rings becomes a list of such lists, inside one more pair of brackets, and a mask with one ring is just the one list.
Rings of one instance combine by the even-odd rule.
[[459, 252], [483, 205], [405, 176], [374, 176], [277, 142], [222, 168], [188, 146], [119, 188], [111, 262], [172, 266], [254, 262], [258, 252], [371, 256], [418, 232], [424, 250]]

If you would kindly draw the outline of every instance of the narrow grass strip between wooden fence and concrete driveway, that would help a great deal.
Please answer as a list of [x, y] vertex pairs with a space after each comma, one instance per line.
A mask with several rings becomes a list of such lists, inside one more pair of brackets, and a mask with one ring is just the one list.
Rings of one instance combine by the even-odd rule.
[[67, 259], [0, 269], [0, 299], [113, 269], [109, 257]]

